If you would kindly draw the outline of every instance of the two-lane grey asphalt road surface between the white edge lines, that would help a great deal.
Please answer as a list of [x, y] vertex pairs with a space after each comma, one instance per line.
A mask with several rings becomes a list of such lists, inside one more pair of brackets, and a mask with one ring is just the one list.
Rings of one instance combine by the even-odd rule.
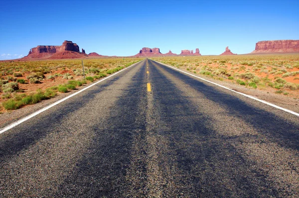
[[299, 197], [299, 118], [144, 60], [0, 134], [0, 197]]

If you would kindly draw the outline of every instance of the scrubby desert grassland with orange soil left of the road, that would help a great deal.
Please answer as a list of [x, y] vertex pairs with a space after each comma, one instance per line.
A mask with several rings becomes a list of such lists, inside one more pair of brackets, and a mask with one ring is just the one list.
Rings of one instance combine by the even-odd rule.
[[[42, 93], [46, 94], [43, 99], [54, 97], [58, 92], [71, 91], [85, 82], [90, 83], [141, 60], [141, 58], [84, 60], [86, 81], [82, 81], [81, 60], [0, 62], [0, 113], [27, 105], [21, 101], [28, 96]], [[70, 85], [68, 83], [70, 80], [76, 80], [78, 83]], [[14, 84], [17, 86], [11, 87]], [[53, 94], [49, 95], [49, 91]]]

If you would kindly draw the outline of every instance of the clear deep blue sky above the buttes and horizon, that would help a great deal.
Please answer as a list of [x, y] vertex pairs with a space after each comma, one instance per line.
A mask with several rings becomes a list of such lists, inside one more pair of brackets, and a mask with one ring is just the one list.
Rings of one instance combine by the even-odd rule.
[[0, 2], [0, 60], [64, 40], [108, 56], [143, 47], [219, 55], [229, 46], [245, 54], [258, 41], [298, 40], [298, 8], [299, 0], [6, 0]]

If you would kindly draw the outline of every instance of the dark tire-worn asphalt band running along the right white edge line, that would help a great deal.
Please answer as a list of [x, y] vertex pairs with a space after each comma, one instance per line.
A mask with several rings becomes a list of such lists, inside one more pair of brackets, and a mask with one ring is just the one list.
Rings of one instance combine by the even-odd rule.
[[204, 94], [207, 99], [224, 106], [231, 115], [235, 115], [251, 124], [259, 131], [259, 133], [272, 138], [286, 149], [293, 148], [299, 150], [299, 120], [297, 116], [287, 114], [268, 106], [267, 107], [270, 111], [273, 110], [274, 112], [278, 112], [278, 114], [265, 111], [262, 109], [265, 105], [256, 101], [248, 99], [246, 101], [249, 104], [247, 104], [234, 94], [228, 94], [226, 90], [220, 90], [214, 86], [208, 86], [197, 79], [182, 74], [169, 67], [161, 65], [160, 67], [171, 73], [176, 78], [181, 79], [182, 82], [188, 84], [198, 92]]

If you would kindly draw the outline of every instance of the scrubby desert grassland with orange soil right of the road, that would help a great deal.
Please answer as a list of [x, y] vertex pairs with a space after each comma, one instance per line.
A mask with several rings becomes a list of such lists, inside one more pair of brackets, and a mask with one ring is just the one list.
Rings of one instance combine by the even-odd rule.
[[273, 89], [273, 92], [280, 89], [283, 90], [281, 93], [299, 90], [298, 54], [159, 57], [152, 59], [199, 75], [221, 81], [231, 81], [253, 89], [270, 88]]

